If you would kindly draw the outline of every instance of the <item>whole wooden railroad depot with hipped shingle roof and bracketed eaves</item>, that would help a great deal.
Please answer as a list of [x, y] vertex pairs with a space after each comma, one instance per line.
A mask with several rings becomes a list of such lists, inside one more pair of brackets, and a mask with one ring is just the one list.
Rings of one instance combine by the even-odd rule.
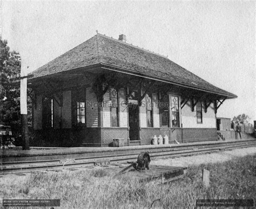
[[217, 140], [217, 109], [237, 96], [125, 41], [97, 33], [31, 73], [34, 145]]

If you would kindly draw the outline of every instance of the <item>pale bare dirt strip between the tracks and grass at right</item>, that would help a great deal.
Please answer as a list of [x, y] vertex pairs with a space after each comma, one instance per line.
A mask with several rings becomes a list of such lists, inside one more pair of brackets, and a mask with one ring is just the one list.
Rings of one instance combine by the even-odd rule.
[[230, 151], [214, 152], [211, 154], [194, 155], [177, 158], [162, 158], [151, 161], [152, 165], [189, 166], [203, 163], [217, 163], [228, 161], [234, 157], [256, 154], [256, 147], [234, 149]]

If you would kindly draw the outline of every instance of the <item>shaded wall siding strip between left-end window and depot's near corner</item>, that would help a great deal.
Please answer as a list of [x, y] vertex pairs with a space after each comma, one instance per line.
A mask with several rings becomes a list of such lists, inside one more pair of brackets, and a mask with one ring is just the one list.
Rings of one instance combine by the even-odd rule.
[[91, 87], [86, 88], [86, 127], [98, 127], [98, 102]]

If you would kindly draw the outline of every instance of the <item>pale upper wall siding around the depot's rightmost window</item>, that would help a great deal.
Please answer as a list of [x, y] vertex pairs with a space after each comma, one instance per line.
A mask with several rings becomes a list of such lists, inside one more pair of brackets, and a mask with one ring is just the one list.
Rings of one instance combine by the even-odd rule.
[[213, 103], [207, 108], [207, 113], [203, 112], [203, 123], [197, 123], [197, 108], [191, 111], [190, 101], [181, 109], [181, 121], [183, 128], [216, 128], [216, 116]]

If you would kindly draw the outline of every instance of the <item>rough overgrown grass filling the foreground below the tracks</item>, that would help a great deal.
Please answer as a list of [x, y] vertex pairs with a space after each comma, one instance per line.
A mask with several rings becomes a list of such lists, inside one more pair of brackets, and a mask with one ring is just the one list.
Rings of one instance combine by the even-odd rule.
[[[5, 185], [1, 196], [21, 199], [61, 199], [63, 208], [192, 207], [196, 199], [255, 198], [254, 156], [216, 164], [191, 166], [186, 175], [164, 185], [139, 183], [106, 170], [35, 172], [20, 184]], [[201, 170], [210, 170], [211, 185], [201, 183]]]

